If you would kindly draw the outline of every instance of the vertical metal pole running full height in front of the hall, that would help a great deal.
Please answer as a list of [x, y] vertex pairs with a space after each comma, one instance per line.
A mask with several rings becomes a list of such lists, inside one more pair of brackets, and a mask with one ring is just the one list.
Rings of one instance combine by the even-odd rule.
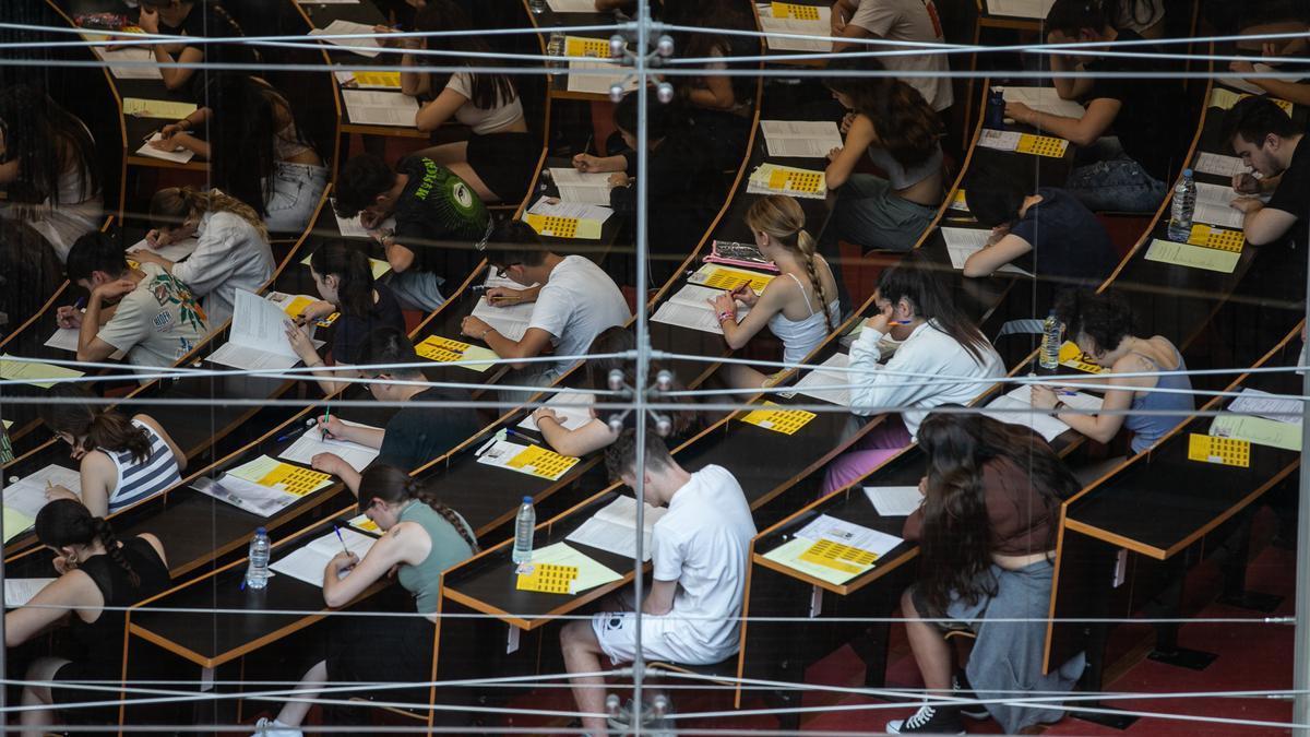
[[646, 260], [650, 256], [650, 237], [647, 227], [650, 216], [646, 210], [646, 197], [648, 193], [647, 180], [650, 177], [650, 156], [647, 156], [646, 139], [648, 135], [646, 102], [650, 98], [646, 85], [646, 51], [650, 38], [650, 3], [637, 1], [637, 49], [633, 54], [633, 67], [637, 75], [637, 366], [635, 380], [633, 383], [633, 417], [637, 418], [637, 553], [633, 560], [633, 570], [637, 577], [633, 581], [633, 599], [637, 603], [637, 633], [635, 653], [633, 660], [633, 728], [634, 734], [642, 733], [642, 677], [646, 669], [646, 660], [642, 657], [642, 530], [645, 528], [643, 489], [646, 487], [646, 386], [650, 372], [650, 329], [646, 324]]

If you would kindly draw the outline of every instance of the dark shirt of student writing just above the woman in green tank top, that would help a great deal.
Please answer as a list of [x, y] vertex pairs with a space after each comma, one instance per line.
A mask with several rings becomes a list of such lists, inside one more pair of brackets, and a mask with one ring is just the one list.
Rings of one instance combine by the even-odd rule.
[[[464, 389], [432, 387], [410, 401], [469, 401]], [[377, 463], [413, 471], [444, 455], [482, 429], [470, 407], [406, 407], [386, 424]]]

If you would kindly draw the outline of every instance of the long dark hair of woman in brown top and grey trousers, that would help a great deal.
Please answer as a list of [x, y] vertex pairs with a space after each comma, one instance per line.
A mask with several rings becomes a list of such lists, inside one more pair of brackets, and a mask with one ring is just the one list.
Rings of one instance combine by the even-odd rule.
[[[984, 467], [997, 459], [1028, 475], [1044, 506], [1048, 538], [1055, 547], [1060, 502], [1079, 484], [1040, 437], [1023, 425], [982, 414], [933, 412], [918, 426], [918, 445], [927, 456], [924, 497], [922, 564], [917, 586], [934, 614], [946, 611], [951, 593], [972, 605], [994, 595], [982, 576], [992, 565], [992, 527], [982, 485]], [[1034, 510], [1032, 517], [1038, 517]]]

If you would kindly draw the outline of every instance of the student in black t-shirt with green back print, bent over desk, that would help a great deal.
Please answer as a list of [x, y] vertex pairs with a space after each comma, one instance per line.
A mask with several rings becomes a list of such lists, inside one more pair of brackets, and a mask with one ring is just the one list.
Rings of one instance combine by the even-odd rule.
[[[388, 286], [401, 304], [432, 312], [445, 302], [441, 285], [462, 282], [479, 257], [474, 244], [486, 236], [482, 198], [458, 176], [426, 156], [407, 156], [393, 172], [385, 161], [362, 153], [346, 163], [337, 182], [337, 214], [359, 215], [386, 249]], [[381, 228], [394, 215], [394, 231]]]

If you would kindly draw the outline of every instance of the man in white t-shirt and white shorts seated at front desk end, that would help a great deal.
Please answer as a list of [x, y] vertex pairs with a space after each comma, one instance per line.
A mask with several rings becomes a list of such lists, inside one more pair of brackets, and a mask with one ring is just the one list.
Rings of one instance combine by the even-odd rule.
[[[637, 484], [637, 435], [626, 430], [605, 451], [612, 476]], [[651, 532], [654, 582], [642, 602], [642, 657], [688, 665], [719, 662], [738, 650], [745, 567], [755, 538], [751, 506], [741, 485], [720, 466], [690, 473], [669, 456], [655, 434], [646, 437], [643, 497], [668, 506]], [[638, 618], [631, 590], [590, 622], [570, 622], [559, 632], [569, 673], [604, 670], [635, 660]], [[617, 610], [617, 611], [616, 611]], [[579, 711], [604, 711], [605, 682], [572, 679]], [[604, 717], [583, 719], [591, 734], [605, 734]]]

